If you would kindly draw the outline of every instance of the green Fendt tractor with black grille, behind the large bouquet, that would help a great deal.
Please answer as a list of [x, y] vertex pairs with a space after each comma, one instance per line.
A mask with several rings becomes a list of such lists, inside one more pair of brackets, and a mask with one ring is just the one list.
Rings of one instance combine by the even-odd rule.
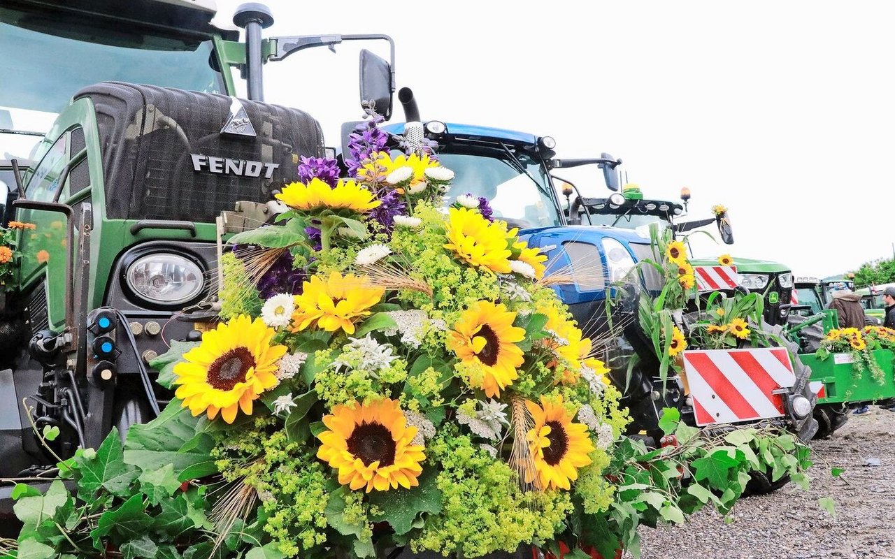
[[[217, 290], [221, 235], [271, 218], [266, 203], [296, 179], [300, 157], [324, 155], [309, 114], [258, 100], [260, 54], [280, 60], [348, 39], [391, 42], [261, 41], [272, 19], [246, 4], [234, 16], [246, 28], [242, 44], [209, 24], [210, 5], [0, 7], [5, 75], [24, 60], [28, 75], [47, 82], [6, 80], [0, 106], [16, 109], [7, 120], [58, 112], [25, 160], [10, 155], [0, 171], [0, 224], [34, 225], [18, 231], [18, 273], [0, 298], [0, 478], [53, 468], [36, 436], [44, 428], [60, 429], [50, 445], [67, 457], [98, 447], [112, 428], [124, 437], [156, 417], [172, 394], [152, 381], [149, 362], [170, 343], [200, 339], [217, 316], [200, 303]], [[391, 65], [366, 51], [361, 64], [362, 98], [390, 107]], [[246, 71], [256, 100], [232, 97], [231, 66]], [[144, 85], [85, 84], [110, 79]], [[12, 490], [0, 487], [0, 517], [12, 514]]]

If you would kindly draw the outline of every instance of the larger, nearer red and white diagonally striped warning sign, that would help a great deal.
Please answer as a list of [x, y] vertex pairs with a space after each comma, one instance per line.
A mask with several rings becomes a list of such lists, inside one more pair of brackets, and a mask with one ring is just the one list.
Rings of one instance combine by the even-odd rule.
[[780, 388], [796, 384], [786, 348], [684, 351], [696, 425], [779, 418]]

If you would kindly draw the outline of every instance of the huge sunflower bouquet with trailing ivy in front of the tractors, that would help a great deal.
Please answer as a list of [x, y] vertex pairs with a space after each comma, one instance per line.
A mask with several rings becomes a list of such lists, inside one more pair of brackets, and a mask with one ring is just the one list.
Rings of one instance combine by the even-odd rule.
[[60, 460], [46, 494], [17, 487], [24, 528], [0, 546], [609, 558], [637, 553], [641, 523], [729, 511], [749, 470], [805, 480], [805, 447], [766, 428], [709, 433], [669, 411], [674, 445], [620, 436], [618, 389], [546, 257], [485, 199], [443, 208], [453, 174], [431, 146], [384, 147], [374, 119], [347, 178], [303, 159], [277, 223], [230, 239], [219, 324], [153, 361], [171, 402]]

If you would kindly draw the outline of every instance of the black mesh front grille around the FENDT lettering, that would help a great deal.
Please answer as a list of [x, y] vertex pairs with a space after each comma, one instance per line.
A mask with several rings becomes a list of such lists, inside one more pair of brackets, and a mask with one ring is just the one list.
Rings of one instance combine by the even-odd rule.
[[[297, 179], [299, 157], [320, 157], [320, 124], [297, 109], [241, 101], [255, 136], [222, 134], [232, 97], [108, 82], [81, 89], [99, 125], [107, 216], [211, 222], [237, 200], [265, 202]], [[267, 178], [194, 170], [191, 154], [277, 165]], [[243, 164], [244, 165], [244, 164]], [[222, 171], [223, 169], [217, 169]]]

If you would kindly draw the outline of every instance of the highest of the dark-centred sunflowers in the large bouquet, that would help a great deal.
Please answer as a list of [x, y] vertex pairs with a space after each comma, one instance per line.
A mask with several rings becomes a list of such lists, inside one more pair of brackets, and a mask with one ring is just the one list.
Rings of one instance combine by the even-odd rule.
[[516, 313], [504, 305], [478, 301], [447, 333], [447, 348], [459, 360], [481, 365], [481, 388], [489, 398], [499, 397], [501, 390], [513, 384], [518, 377], [516, 368], [524, 361], [516, 343], [522, 342], [525, 330], [513, 326], [514, 320]]

